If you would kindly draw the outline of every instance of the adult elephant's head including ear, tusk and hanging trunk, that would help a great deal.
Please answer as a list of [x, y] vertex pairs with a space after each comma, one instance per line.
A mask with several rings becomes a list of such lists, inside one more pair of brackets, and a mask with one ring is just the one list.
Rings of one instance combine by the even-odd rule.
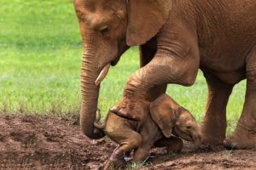
[[[74, 0], [84, 43], [81, 67], [80, 124], [90, 139], [104, 133], [94, 126], [99, 86], [109, 65], [131, 45], [147, 42], [168, 17], [166, 0]], [[169, 4], [169, 3], [168, 3]]]

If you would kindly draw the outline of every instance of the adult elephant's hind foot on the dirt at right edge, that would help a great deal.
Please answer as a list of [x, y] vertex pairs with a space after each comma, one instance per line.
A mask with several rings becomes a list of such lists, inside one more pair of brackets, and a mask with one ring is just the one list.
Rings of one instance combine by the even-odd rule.
[[224, 140], [224, 147], [233, 150], [253, 149], [256, 147], [256, 136], [234, 133]]

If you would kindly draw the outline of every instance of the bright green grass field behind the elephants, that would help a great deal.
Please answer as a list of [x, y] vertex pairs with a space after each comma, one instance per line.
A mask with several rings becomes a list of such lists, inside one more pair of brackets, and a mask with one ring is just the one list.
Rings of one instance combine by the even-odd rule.
[[[79, 114], [81, 54], [72, 0], [1, 0], [1, 112]], [[137, 48], [131, 48], [102, 83], [102, 112], [118, 102], [125, 81], [137, 68]], [[201, 72], [194, 86], [170, 85], [168, 94], [201, 120], [207, 99]], [[236, 127], [244, 95], [245, 81], [236, 86], [230, 98], [228, 133]]]

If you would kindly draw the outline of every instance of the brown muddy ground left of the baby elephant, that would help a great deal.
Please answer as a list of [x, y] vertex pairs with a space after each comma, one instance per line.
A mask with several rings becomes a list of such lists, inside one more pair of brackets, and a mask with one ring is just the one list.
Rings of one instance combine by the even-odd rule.
[[2, 116], [0, 169], [92, 169], [115, 144], [87, 139], [68, 117]]

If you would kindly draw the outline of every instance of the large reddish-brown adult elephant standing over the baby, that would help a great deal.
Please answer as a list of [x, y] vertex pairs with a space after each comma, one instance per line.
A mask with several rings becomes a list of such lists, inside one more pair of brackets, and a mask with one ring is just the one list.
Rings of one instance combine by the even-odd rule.
[[247, 78], [241, 118], [224, 144], [255, 147], [255, 0], [74, 0], [74, 6], [84, 42], [80, 119], [86, 136], [103, 135], [94, 122], [99, 84], [109, 65], [140, 45], [142, 68], [129, 78], [113, 112], [138, 121], [148, 96], [165, 93], [167, 83], [192, 85], [201, 69], [209, 89], [202, 139], [223, 144], [232, 88]]

